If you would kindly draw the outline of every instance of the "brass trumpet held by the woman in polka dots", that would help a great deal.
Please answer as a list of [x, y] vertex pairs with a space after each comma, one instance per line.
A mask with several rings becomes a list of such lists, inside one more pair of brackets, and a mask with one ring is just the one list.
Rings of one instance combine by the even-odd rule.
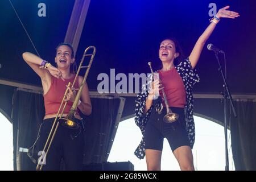
[[[151, 67], [151, 62], [148, 62], [147, 63], [150, 67], [150, 71], [152, 73], [152, 81], [154, 81], [154, 71]], [[164, 118], [163, 118], [163, 121], [166, 122], [166, 123], [172, 123], [172, 122], [175, 122], [177, 121], [177, 119], [179, 119], [179, 114], [177, 113], [173, 113], [172, 110], [169, 108], [169, 104], [168, 104], [168, 101], [167, 101], [167, 98], [166, 98], [166, 93], [164, 92], [164, 88], [161, 89], [162, 90], [162, 93], [163, 93], [163, 100], [164, 100], [164, 104], [166, 105], [166, 115], [164, 115]], [[158, 108], [156, 108], [156, 111], [158, 111], [158, 113], [162, 113], [162, 110], [163, 110], [163, 104], [161, 102], [160, 106]]]

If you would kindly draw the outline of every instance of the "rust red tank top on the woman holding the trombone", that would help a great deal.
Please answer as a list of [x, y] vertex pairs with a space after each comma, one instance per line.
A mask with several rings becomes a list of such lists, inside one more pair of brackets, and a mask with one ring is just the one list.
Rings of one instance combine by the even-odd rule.
[[[65, 79], [65, 81], [61, 80], [60, 78], [53, 77], [51, 78], [51, 86], [46, 94], [44, 94], [44, 107], [46, 108], [46, 115], [47, 114], [57, 114], [57, 111], [60, 107], [61, 101], [63, 99], [65, 90], [67, 89], [66, 85], [68, 82], [73, 83], [75, 79], [75, 75], [72, 78]], [[79, 88], [79, 81], [75, 83], [75, 88]], [[67, 106], [65, 107], [64, 114], [68, 114], [69, 110], [71, 109], [73, 102], [68, 101]], [[61, 108], [62, 109], [62, 108]], [[78, 114], [78, 110], [76, 113]]]

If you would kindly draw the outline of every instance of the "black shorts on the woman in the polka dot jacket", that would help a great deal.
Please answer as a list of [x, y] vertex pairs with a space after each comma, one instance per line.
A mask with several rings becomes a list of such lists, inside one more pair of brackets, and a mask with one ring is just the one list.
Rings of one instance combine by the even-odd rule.
[[181, 107], [170, 108], [172, 112], [179, 114], [179, 119], [173, 123], [163, 121], [166, 107], [163, 108], [162, 114], [158, 114], [155, 109], [152, 110], [144, 133], [146, 149], [162, 151], [164, 138], [168, 140], [172, 152], [178, 147], [189, 146], [188, 134], [185, 130], [184, 109]]

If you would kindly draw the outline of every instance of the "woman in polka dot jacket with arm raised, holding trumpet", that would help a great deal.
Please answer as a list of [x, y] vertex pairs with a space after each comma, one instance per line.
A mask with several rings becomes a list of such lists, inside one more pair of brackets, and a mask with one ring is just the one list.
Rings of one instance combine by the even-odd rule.
[[[194, 170], [191, 150], [195, 142], [192, 87], [200, 81], [195, 67], [205, 42], [220, 19], [240, 16], [228, 9], [229, 6], [226, 6], [218, 11], [187, 59], [182, 59], [181, 49], [175, 39], [164, 39], [160, 43], [162, 69], [157, 71], [160, 79], [155, 78], [151, 90], [138, 94], [135, 109], [135, 123], [140, 127], [143, 138], [134, 154], [139, 159], [146, 155], [148, 170], [160, 170], [163, 138], [167, 138], [180, 169]], [[180, 63], [176, 63], [178, 60]], [[163, 122], [165, 115], [169, 114], [168, 110], [163, 109], [160, 114], [156, 111], [160, 104], [165, 105], [161, 89], [166, 93], [167, 105], [179, 116], [176, 121]], [[154, 100], [158, 90], [162, 96], [160, 101]]]

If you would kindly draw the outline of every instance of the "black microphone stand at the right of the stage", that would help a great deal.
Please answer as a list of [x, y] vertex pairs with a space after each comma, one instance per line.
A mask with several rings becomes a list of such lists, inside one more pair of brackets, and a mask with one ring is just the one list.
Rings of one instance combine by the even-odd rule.
[[[215, 51], [215, 57], [218, 61], [218, 66], [219, 66], [218, 71], [221, 72], [221, 76], [222, 76], [222, 79], [223, 79], [223, 82], [224, 82], [224, 84], [223, 84], [224, 93], [222, 93], [222, 96], [224, 97], [224, 131], [225, 131], [225, 159], [226, 159], [225, 171], [229, 171], [228, 132], [227, 132], [227, 129], [228, 129], [228, 125], [227, 125], [227, 100], [230, 101], [234, 117], [237, 117], [237, 114], [236, 114], [236, 109], [234, 108], [234, 103], [233, 103], [232, 96], [231, 96], [230, 91], [229, 91], [228, 83], [226, 82], [226, 70], [225, 70], [225, 76], [224, 76], [224, 73], [223, 73], [222, 68], [221, 68], [220, 60], [218, 59], [218, 53], [223, 53], [224, 57], [225, 57], [225, 52], [224, 51]], [[226, 65], [226, 59], [225, 59], [225, 65]]]

